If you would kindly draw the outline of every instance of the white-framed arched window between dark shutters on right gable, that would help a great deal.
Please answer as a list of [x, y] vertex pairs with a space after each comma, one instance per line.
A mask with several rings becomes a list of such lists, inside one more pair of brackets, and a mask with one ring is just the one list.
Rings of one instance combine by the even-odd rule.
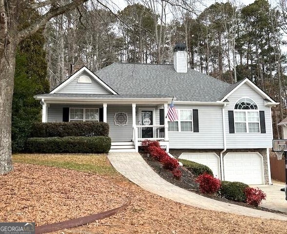
[[239, 99], [234, 106], [236, 133], [260, 133], [258, 106], [250, 98]]

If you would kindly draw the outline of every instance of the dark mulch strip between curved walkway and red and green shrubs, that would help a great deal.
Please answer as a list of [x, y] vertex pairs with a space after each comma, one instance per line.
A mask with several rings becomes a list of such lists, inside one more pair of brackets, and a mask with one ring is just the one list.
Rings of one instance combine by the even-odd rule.
[[236, 205], [240, 205], [240, 206], [245, 206], [245, 207], [249, 207], [249, 208], [253, 208], [253, 209], [257, 209], [257, 210], [262, 210], [262, 211], [268, 211], [268, 212], [272, 212], [272, 213], [278, 213], [278, 214], [283, 214], [283, 215], [287, 215], [287, 213], [285, 212], [281, 212], [281, 211], [276, 211], [276, 210], [271, 210], [265, 207], [254, 207], [254, 206], [250, 206], [247, 203], [244, 202], [236, 202], [236, 201], [231, 201], [228, 200], [226, 198], [222, 198], [220, 196], [217, 195], [208, 195], [208, 194], [201, 194], [198, 191], [198, 184], [194, 182], [195, 177], [192, 175], [192, 173], [187, 170], [184, 167], [180, 167], [180, 170], [182, 172], [182, 177], [180, 180], [174, 178], [174, 176], [172, 175], [171, 172], [165, 170], [162, 168], [160, 162], [154, 160], [152, 157], [148, 157], [146, 153], [141, 153], [142, 158], [149, 164], [149, 166], [153, 169], [154, 172], [156, 172], [159, 176], [161, 176], [163, 179], [167, 180], [168, 182], [189, 190], [191, 192], [218, 200], [218, 201], [223, 201], [223, 202], [227, 202], [227, 203], [232, 203], [232, 204], [236, 204]]

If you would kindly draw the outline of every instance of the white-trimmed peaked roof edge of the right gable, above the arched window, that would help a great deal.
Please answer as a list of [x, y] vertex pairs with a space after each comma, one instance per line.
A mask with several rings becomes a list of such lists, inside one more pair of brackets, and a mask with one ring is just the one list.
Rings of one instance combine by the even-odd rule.
[[226, 100], [231, 94], [233, 94], [237, 89], [239, 89], [243, 84], [248, 84], [250, 88], [252, 88], [255, 92], [257, 92], [262, 98], [265, 98], [270, 102], [270, 104], [277, 105], [278, 103], [275, 102], [272, 98], [268, 96], [263, 90], [257, 87], [252, 81], [248, 78], [240, 80], [232, 85], [226, 90], [226, 92], [222, 95], [219, 102], [223, 102]]

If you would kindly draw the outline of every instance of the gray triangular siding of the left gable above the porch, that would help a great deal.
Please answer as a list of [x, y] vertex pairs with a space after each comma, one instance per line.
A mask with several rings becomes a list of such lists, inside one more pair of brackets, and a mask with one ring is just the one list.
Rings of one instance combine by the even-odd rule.
[[[90, 77], [87, 73], [83, 72], [79, 76], [85, 75]], [[92, 83], [78, 83], [79, 76], [75, 77], [70, 83], [58, 90], [57, 94], [111, 94], [94, 78], [90, 77]]]

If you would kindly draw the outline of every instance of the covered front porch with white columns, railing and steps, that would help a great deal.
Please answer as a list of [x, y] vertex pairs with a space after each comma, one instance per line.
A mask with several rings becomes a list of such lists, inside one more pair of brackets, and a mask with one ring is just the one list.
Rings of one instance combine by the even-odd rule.
[[77, 103], [41, 100], [42, 122], [103, 121], [110, 126], [111, 152], [138, 152], [143, 140], [157, 140], [169, 152], [168, 102]]

